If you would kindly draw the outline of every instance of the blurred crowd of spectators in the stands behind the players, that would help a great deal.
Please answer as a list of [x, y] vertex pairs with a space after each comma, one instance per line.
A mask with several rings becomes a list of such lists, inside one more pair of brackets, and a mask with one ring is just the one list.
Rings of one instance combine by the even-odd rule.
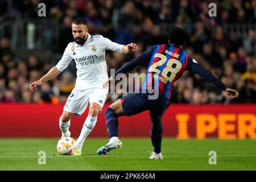
[[[61, 24], [59, 48], [62, 54], [73, 42], [71, 22], [84, 17], [89, 33], [101, 34], [110, 40], [137, 43], [137, 52], [130, 55], [106, 52], [108, 72], [118, 69], [141, 55], [155, 44], [167, 44], [164, 26], [178, 26], [188, 31], [184, 49], [205, 69], [220, 78], [227, 86], [237, 89], [240, 96], [230, 100], [225, 92], [203, 81], [199, 76], [184, 72], [175, 83], [171, 102], [187, 104], [256, 103], [256, 34], [249, 28], [245, 36], [224, 30], [225, 24], [256, 23], [256, 1], [200, 1], [200, 0], [24, 0], [0, 1], [0, 20], [10, 18], [38, 18], [38, 4], [46, 3], [47, 18]], [[217, 5], [217, 16], [210, 17], [209, 3]], [[190, 31], [191, 30], [191, 31]], [[54, 39], [53, 39], [54, 40]], [[54, 43], [54, 41], [52, 42]], [[42, 61], [36, 55], [27, 59], [15, 56], [10, 37], [0, 39], [0, 102], [36, 102], [53, 104], [65, 102], [75, 86], [76, 69], [68, 67], [60, 76], [45, 82], [37, 91], [29, 85], [38, 80], [55, 63]], [[145, 73], [146, 65], [134, 69]], [[128, 81], [129, 82], [129, 81]], [[123, 96], [122, 90], [109, 94], [113, 102]]]

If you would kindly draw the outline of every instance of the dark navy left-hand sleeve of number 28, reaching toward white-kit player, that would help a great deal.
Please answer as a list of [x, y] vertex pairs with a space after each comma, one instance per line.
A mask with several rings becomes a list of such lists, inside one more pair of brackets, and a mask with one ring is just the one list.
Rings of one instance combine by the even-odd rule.
[[[138, 65], [141, 65], [142, 63], [146, 63], [150, 60], [152, 53], [154, 52], [154, 49], [157, 46], [151, 46], [147, 49], [147, 51], [143, 52], [139, 57], [136, 59], [131, 60], [129, 63], [126, 63], [123, 65], [122, 68], [120, 68], [114, 76], [117, 76], [118, 73], [127, 73], [131, 71], [132, 69], [136, 68]], [[113, 76], [112, 76], [113, 77]]]

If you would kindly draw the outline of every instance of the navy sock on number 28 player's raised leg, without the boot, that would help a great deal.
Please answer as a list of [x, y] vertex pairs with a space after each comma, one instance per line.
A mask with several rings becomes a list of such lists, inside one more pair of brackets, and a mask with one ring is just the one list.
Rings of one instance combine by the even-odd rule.
[[108, 127], [109, 138], [118, 137], [118, 119], [114, 110], [108, 107], [105, 111], [106, 126]]

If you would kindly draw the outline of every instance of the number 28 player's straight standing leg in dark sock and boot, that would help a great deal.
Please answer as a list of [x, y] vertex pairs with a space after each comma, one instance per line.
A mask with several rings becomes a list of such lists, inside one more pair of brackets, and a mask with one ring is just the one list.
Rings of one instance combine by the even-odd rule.
[[150, 155], [150, 159], [163, 159], [161, 154], [161, 146], [162, 146], [162, 114], [159, 111], [150, 110], [152, 129], [150, 131], [151, 134], [151, 142], [154, 146], [154, 151]]

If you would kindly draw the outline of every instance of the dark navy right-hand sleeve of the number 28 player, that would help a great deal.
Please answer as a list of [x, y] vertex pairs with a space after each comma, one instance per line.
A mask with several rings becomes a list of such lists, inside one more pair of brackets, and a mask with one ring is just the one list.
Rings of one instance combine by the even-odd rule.
[[227, 86], [222, 81], [213, 76], [212, 73], [202, 68], [199, 64], [197, 64], [197, 61], [195, 59], [192, 59], [191, 57], [188, 57], [186, 69], [193, 73], [196, 73], [200, 77], [204, 78], [204, 80], [218, 86], [222, 90], [225, 90], [227, 88]]

